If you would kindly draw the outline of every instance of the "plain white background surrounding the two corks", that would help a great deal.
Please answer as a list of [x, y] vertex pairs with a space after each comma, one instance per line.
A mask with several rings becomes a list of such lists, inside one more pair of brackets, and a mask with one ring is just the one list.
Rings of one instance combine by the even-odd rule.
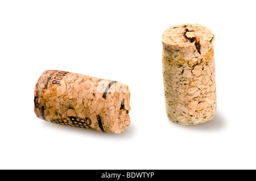
[[[256, 169], [254, 1], [0, 1], [0, 169]], [[212, 29], [217, 114], [167, 119], [161, 36]], [[47, 69], [113, 79], [131, 90], [122, 134], [64, 127], [34, 113]]]

